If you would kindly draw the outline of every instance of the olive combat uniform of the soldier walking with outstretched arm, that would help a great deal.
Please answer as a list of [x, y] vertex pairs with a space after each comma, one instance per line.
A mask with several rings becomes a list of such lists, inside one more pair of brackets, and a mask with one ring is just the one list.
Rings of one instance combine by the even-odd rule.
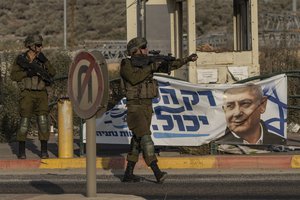
[[[170, 69], [175, 70], [188, 62], [178, 59], [170, 63]], [[155, 63], [148, 66], [136, 67], [130, 58], [121, 62], [121, 76], [124, 80], [127, 98], [127, 124], [133, 133], [131, 152], [128, 161], [137, 162], [140, 150], [147, 165], [157, 161], [154, 154], [154, 144], [151, 139], [152, 99], [158, 97], [158, 84], [153, 79]]]

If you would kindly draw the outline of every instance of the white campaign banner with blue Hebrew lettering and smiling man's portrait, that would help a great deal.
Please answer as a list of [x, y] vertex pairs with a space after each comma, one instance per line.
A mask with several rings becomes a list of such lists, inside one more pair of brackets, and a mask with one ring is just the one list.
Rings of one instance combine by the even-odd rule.
[[[155, 79], [159, 83], [159, 97], [153, 99], [153, 116], [150, 127], [155, 145], [200, 146], [223, 138], [228, 127], [232, 126], [228, 124], [230, 121], [244, 133], [244, 129], [247, 128], [244, 125], [248, 124], [245, 114], [243, 119], [240, 117], [232, 121], [229, 120], [230, 117], [226, 116], [229, 114], [225, 115], [225, 111], [233, 112], [237, 108], [244, 109], [244, 111], [237, 111], [240, 114], [235, 114], [241, 116], [241, 113], [246, 113], [246, 107], [250, 107], [250, 103], [257, 105], [257, 108], [254, 109], [257, 115], [254, 120], [250, 120], [248, 127], [253, 128], [251, 123], [263, 121], [267, 132], [279, 138], [287, 137], [287, 77], [284, 74], [254, 83], [261, 87], [265, 97], [265, 109], [260, 108], [261, 104], [257, 103], [258, 101], [255, 99], [246, 101], [232, 98], [231, 102], [224, 105], [225, 99], [228, 100], [230, 97], [229, 93], [224, 94], [224, 92], [230, 88], [241, 88], [247, 84], [192, 84], [160, 76], [155, 76]], [[233, 95], [238, 96], [237, 94]], [[225, 96], [226, 98], [224, 98]], [[233, 106], [236, 107], [233, 108]], [[126, 116], [126, 98], [123, 98], [113, 109], [96, 119], [96, 142], [129, 144], [132, 132], [128, 129]], [[252, 115], [249, 114], [249, 116]], [[236, 129], [236, 133], [239, 132], [239, 129]], [[84, 126], [84, 142], [85, 134]], [[239, 137], [237, 134], [235, 136]], [[261, 137], [260, 141], [263, 139]], [[241, 141], [244, 142], [244, 140]]]

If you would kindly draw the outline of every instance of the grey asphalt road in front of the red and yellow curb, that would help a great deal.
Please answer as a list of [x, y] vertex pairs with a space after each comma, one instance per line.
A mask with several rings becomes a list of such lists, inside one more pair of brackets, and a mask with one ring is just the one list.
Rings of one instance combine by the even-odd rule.
[[[180, 190], [182, 194], [187, 195], [186, 198], [176, 198], [176, 199], [232, 199], [232, 197], [236, 197], [237, 190], [236, 188], [239, 188], [239, 191], [242, 192], [242, 195], [245, 195], [243, 197], [248, 197], [246, 199], [297, 199], [297, 198], [287, 198], [284, 196], [281, 192], [287, 192], [290, 194], [289, 197], [292, 196], [292, 194], [299, 194], [299, 186], [297, 186], [298, 180], [299, 180], [299, 170], [298, 169], [276, 169], [276, 170], [270, 170], [270, 169], [259, 169], [259, 170], [216, 170], [216, 169], [184, 169], [184, 170], [165, 170], [168, 172], [168, 180], [163, 185], [160, 184], [154, 184], [151, 182], [151, 180], [154, 180], [153, 173], [151, 170], [137, 170], [136, 174], [139, 176], [142, 176], [146, 178], [148, 181], [144, 181], [141, 183], [140, 190], [147, 190], [147, 188], [152, 189], [154, 191], [157, 190], [163, 190], [164, 192], [168, 191], [168, 198], [163, 198], [164, 195], [161, 195], [158, 198], [150, 198], [147, 197], [146, 194], [149, 194], [148, 192], [137, 192], [132, 189], [136, 186], [136, 184], [125, 184], [120, 183], [120, 175], [122, 176], [124, 171], [123, 170], [103, 170], [98, 169], [97, 170], [97, 190], [99, 191], [97, 194], [98, 199], [173, 199], [172, 196], [174, 193], [178, 194], [178, 191]], [[86, 191], [85, 186], [83, 185], [83, 179], [85, 179], [85, 169], [47, 169], [47, 170], [0, 170], [0, 199], [1, 200], [22, 200], [22, 199], [44, 199], [44, 197], [49, 200], [52, 200], [54, 198], [56, 199], [65, 199], [70, 198], [72, 199], [85, 199]], [[76, 178], [75, 178], [76, 177]], [[222, 178], [223, 177], [223, 178]], [[279, 178], [278, 178], [279, 177]], [[281, 178], [280, 178], [281, 177]], [[285, 180], [283, 180], [285, 179]], [[235, 180], [235, 181], [233, 181]], [[277, 180], [277, 181], [276, 181]], [[32, 182], [31, 182], [32, 181]], [[233, 181], [233, 182], [232, 182]], [[262, 184], [262, 182], [268, 182]], [[282, 182], [281, 182], [282, 181]], [[14, 183], [17, 182], [17, 183]], [[47, 184], [47, 187], [42, 187], [37, 185], [37, 182], [44, 182]], [[68, 189], [67, 185], [68, 183], [71, 183], [71, 187], [78, 188], [78, 186], [73, 185], [72, 182], [77, 182], [78, 184], [81, 184], [80, 188], [83, 188], [82, 190], [78, 192], [70, 192], [74, 191], [72, 189]], [[248, 184], [245, 185], [245, 183], [252, 183], [253, 182], [258, 184], [258, 188], [253, 189]], [[28, 185], [23, 185], [23, 184]], [[232, 184], [233, 183], [233, 184]], [[274, 183], [274, 184], [273, 184]], [[280, 183], [284, 184], [281, 185]], [[178, 185], [179, 184], [179, 185]], [[220, 188], [221, 191], [214, 191], [215, 188], [218, 188], [222, 186], [224, 187]], [[7, 188], [7, 185], [10, 186], [16, 186], [18, 189], [16, 189], [18, 194], [12, 194], [11, 189]], [[112, 187], [112, 189], [105, 189], [104, 185], [109, 185], [108, 187]], [[135, 185], [135, 186], [134, 186]], [[175, 188], [171, 186], [175, 186]], [[177, 186], [176, 186], [177, 185]], [[194, 187], [192, 186], [194, 185]], [[250, 184], [251, 185], [251, 184]], [[278, 185], [279, 188], [276, 188]], [[179, 188], [178, 188], [179, 186]], [[181, 190], [180, 187], [183, 187]], [[249, 197], [246, 195], [248, 191], [260, 191], [261, 186], [264, 187], [263, 194], [257, 193], [255, 197], [260, 198], [254, 198], [253, 196]], [[53, 187], [52, 189], [50, 189]], [[99, 188], [100, 187], [100, 188]], [[122, 187], [122, 189], [116, 189], [118, 187]], [[5, 188], [5, 189], [4, 189]], [[22, 188], [26, 188], [25, 190]], [[32, 189], [33, 190], [32, 190]], [[173, 189], [172, 189], [173, 188]], [[186, 191], [185, 188], [189, 188], [191, 190]], [[192, 192], [192, 188], [194, 188], [194, 192]], [[210, 189], [211, 188], [211, 189]], [[225, 189], [226, 188], [226, 189]], [[234, 189], [232, 189], [234, 188]], [[272, 188], [272, 189], [270, 189]], [[295, 190], [296, 188], [296, 190]], [[100, 190], [99, 190], [100, 189]], [[28, 191], [27, 194], [22, 196], [20, 195], [21, 191]], [[175, 190], [175, 191], [174, 191]], [[8, 191], [7, 193], [3, 191]], [[39, 194], [29, 194], [32, 193], [32, 191], [37, 191]], [[62, 191], [65, 191], [65, 194], [62, 194]], [[69, 192], [68, 192], [69, 191]], [[102, 192], [100, 192], [102, 191]], [[105, 192], [109, 192], [109, 194], [106, 194]], [[158, 191], [158, 193], [159, 193]], [[163, 192], [162, 191], [162, 192]], [[200, 192], [199, 192], [200, 191]], [[202, 192], [203, 193], [202, 193]], [[235, 191], [235, 192], [234, 192]], [[292, 191], [297, 191], [296, 193], [292, 193]], [[186, 193], [185, 193], [186, 192]], [[235, 193], [235, 195], [230, 195], [230, 192]], [[289, 193], [290, 192], [290, 193]], [[76, 193], [76, 194], [75, 194]], [[154, 192], [155, 193], [155, 192]], [[192, 193], [196, 194], [194, 198], [192, 198]], [[270, 196], [266, 196], [266, 193], [268, 193]], [[59, 195], [58, 195], [59, 194]], [[133, 196], [134, 194], [135, 196]], [[166, 193], [165, 193], [166, 194]], [[173, 194], [173, 195], [171, 195]], [[201, 196], [207, 195], [207, 196]], [[217, 194], [220, 194], [219, 198]], [[280, 195], [278, 195], [280, 194]], [[43, 196], [44, 195], [44, 196]], [[53, 196], [52, 196], [53, 195]], [[223, 198], [223, 195], [227, 195]], [[229, 196], [228, 196], [229, 195]], [[252, 194], [252, 195], [255, 195]], [[259, 196], [261, 195], [261, 196]], [[190, 196], [190, 198], [188, 198]], [[279, 196], [281, 198], [279, 198]], [[9, 198], [10, 197], [10, 198]], [[202, 198], [201, 198], [202, 197]], [[222, 198], [221, 198], [222, 197]], [[268, 197], [268, 198], [266, 198]], [[277, 198], [270, 198], [270, 197], [277, 197]], [[286, 198], [283, 198], [286, 197]], [[97, 199], [93, 198], [93, 199]], [[91, 198], [88, 198], [91, 199]], [[234, 199], [245, 199], [245, 198], [234, 198]], [[299, 198], [298, 198], [299, 199]]]

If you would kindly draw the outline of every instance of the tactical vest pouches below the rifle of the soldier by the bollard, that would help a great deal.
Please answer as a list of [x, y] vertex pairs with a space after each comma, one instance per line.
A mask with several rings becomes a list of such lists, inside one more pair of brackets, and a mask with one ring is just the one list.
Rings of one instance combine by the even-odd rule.
[[44, 90], [46, 88], [45, 82], [38, 76], [25, 77], [19, 85], [21, 90]]

